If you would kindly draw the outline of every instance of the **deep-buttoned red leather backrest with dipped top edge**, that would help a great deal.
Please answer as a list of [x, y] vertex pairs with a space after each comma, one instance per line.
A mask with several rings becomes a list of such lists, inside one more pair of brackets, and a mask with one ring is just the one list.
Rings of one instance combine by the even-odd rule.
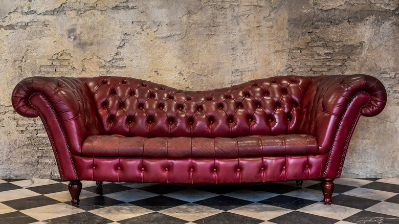
[[105, 134], [239, 137], [295, 133], [312, 78], [252, 80], [212, 91], [182, 91], [123, 77], [82, 78]]

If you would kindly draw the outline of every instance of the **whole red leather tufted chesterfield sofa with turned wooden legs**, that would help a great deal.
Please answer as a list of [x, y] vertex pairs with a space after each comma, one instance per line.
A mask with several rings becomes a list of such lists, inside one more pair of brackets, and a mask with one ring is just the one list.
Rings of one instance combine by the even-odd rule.
[[368, 75], [281, 76], [197, 92], [123, 77], [31, 77], [12, 104], [41, 118], [75, 206], [80, 180], [315, 178], [331, 204], [360, 115], [378, 115], [386, 98]]

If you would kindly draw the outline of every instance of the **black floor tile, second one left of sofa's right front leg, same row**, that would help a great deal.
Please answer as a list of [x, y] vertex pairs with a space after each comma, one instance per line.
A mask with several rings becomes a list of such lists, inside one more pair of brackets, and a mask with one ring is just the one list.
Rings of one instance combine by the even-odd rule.
[[228, 197], [225, 195], [219, 195], [204, 200], [198, 200], [195, 201], [194, 203], [198, 205], [212, 207], [215, 209], [220, 209], [223, 211], [228, 211], [231, 209], [251, 204], [253, 202], [249, 200], [242, 200], [234, 197]]

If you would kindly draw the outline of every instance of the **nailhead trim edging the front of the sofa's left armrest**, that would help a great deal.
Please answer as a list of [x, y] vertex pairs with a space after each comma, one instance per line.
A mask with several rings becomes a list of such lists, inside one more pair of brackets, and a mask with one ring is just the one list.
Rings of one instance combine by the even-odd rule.
[[34, 95], [39, 95], [40, 97], [42, 97], [43, 99], [45, 99], [46, 102], [47, 102], [47, 104], [49, 104], [51, 110], [53, 111], [53, 114], [54, 114], [55, 118], [57, 119], [58, 126], [59, 126], [60, 130], [61, 130], [62, 133], [63, 133], [63, 137], [64, 137], [65, 144], [66, 144], [66, 148], [68, 148], [68, 152], [69, 152], [69, 154], [70, 154], [70, 159], [71, 159], [72, 167], [73, 167], [73, 169], [74, 169], [74, 171], [75, 171], [76, 180], [79, 180], [78, 174], [76, 173], [76, 167], [75, 167], [74, 161], [73, 161], [73, 159], [72, 159], [71, 149], [69, 148], [68, 141], [66, 140], [65, 132], [64, 132], [64, 130], [63, 130], [63, 128], [62, 128], [61, 122], [60, 122], [59, 119], [58, 119], [58, 115], [57, 115], [57, 113], [55, 112], [55, 110], [54, 110], [54, 108], [53, 108], [53, 105], [51, 105], [51, 103], [50, 103], [49, 100], [45, 97], [45, 95], [36, 92], [36, 93], [33, 93], [33, 94], [31, 94], [31, 95], [29, 96], [28, 102], [29, 102], [29, 105], [30, 105], [31, 107], [33, 107], [34, 109], [37, 110], [37, 112], [39, 113], [40, 119], [42, 120], [43, 124], [45, 124], [45, 128], [46, 128], [46, 131], [47, 131], [47, 133], [48, 133], [48, 135], [49, 135], [49, 137], [50, 137], [51, 146], [52, 146], [53, 151], [54, 151], [54, 154], [55, 154], [56, 163], [57, 163], [58, 169], [59, 169], [60, 174], [61, 174], [61, 179], [62, 179], [62, 180], [65, 180], [64, 175], [63, 175], [63, 171], [62, 171], [62, 168], [61, 168], [61, 164], [60, 164], [60, 161], [59, 161], [57, 148], [55, 147], [54, 139], [53, 139], [53, 136], [52, 136], [52, 134], [51, 134], [50, 128], [49, 128], [49, 126], [47, 125], [47, 122], [46, 122], [46, 120], [45, 120], [45, 117], [41, 114], [39, 108], [33, 106], [32, 102], [31, 102], [31, 98], [32, 98], [32, 96], [34, 96]]

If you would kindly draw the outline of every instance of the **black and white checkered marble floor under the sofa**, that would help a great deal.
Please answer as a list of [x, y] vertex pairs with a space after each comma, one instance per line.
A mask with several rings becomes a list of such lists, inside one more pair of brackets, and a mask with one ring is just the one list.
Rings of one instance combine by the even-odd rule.
[[0, 223], [399, 223], [399, 178], [339, 178], [333, 205], [320, 182], [136, 184], [0, 179]]

